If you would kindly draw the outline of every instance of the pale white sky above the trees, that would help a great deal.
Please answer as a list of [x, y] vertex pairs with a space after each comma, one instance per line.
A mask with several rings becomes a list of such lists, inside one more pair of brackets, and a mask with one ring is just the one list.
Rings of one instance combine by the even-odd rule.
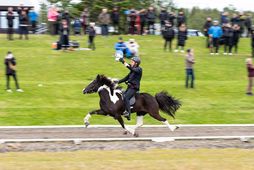
[[[30, 0], [30, 2], [34, 4], [36, 9], [39, 9], [40, 2], [45, 1], [46, 0]], [[79, 0], [73, 1], [78, 2]], [[219, 10], [222, 10], [224, 7], [227, 7], [229, 6], [229, 4], [231, 4], [239, 11], [254, 11], [254, 0], [173, 0], [173, 2], [179, 8], [192, 8], [193, 6], [198, 6], [200, 8], [217, 8]]]

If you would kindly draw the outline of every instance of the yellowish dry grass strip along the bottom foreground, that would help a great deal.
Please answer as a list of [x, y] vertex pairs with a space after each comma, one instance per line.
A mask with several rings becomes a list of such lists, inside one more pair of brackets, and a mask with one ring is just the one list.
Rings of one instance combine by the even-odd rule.
[[253, 157], [244, 149], [3, 153], [0, 169], [252, 170]]

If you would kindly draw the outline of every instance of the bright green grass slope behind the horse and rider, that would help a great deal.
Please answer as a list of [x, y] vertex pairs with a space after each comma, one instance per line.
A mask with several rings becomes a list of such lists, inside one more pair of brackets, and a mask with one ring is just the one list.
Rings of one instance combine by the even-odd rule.
[[[122, 78], [128, 70], [112, 57], [117, 36], [97, 36], [96, 51], [51, 50], [58, 37], [30, 36], [30, 40], [7, 41], [0, 36], [2, 61], [8, 50], [18, 63], [18, 78], [24, 93], [5, 92], [4, 65], [0, 66], [0, 125], [82, 124], [90, 110], [99, 107], [97, 94], [83, 95], [82, 89], [99, 74]], [[124, 36], [127, 40], [130, 36]], [[184, 55], [164, 52], [159, 36], [135, 36], [140, 44], [143, 79], [141, 91], [154, 95], [161, 90], [182, 101], [176, 123], [253, 123], [254, 97], [245, 95], [245, 58], [250, 56], [250, 40], [241, 39], [239, 54], [210, 56], [204, 38], [189, 38], [196, 64], [195, 89], [185, 89]], [[87, 37], [72, 37], [81, 47]], [[222, 51], [222, 50], [221, 50]], [[39, 87], [38, 84], [42, 84]], [[11, 86], [14, 89], [12, 81]], [[163, 114], [163, 113], [162, 113]], [[164, 117], [169, 118], [164, 114]], [[172, 119], [170, 120], [172, 122]], [[94, 116], [92, 124], [117, 124], [104, 116]], [[130, 123], [135, 123], [134, 116]], [[145, 124], [160, 124], [146, 116]]]

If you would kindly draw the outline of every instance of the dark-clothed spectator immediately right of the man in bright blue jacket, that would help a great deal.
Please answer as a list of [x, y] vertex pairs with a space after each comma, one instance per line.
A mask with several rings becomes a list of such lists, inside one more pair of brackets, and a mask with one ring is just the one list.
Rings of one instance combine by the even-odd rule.
[[232, 55], [232, 47], [233, 47], [233, 28], [230, 23], [225, 25], [223, 30], [224, 37], [224, 55]]

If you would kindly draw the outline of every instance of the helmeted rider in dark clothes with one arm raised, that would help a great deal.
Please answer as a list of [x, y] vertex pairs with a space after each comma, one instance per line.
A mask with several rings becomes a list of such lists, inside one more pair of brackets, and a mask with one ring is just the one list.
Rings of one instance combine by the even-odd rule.
[[139, 57], [131, 58], [130, 64], [126, 63], [123, 58], [120, 58], [119, 61], [122, 62], [130, 70], [130, 73], [126, 77], [118, 81], [119, 84], [126, 82], [128, 85], [128, 88], [123, 95], [124, 105], [125, 105], [125, 111], [123, 112], [123, 114], [124, 114], [124, 117], [130, 120], [130, 114], [131, 114], [130, 99], [133, 96], [135, 96], [135, 94], [139, 91], [139, 88], [140, 88], [142, 68], [139, 67], [139, 65], [141, 61]]

